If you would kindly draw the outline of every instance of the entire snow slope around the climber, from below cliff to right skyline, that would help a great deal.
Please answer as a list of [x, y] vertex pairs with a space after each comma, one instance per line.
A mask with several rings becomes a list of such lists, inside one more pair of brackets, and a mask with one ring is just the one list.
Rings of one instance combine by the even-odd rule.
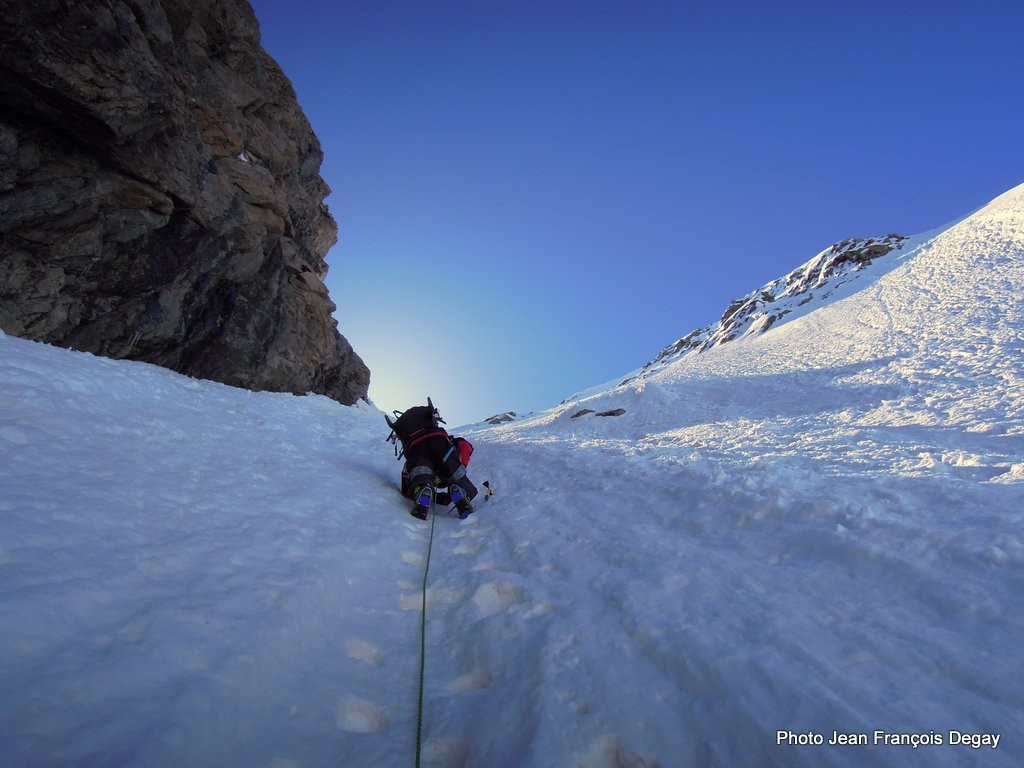
[[[463, 431], [496, 495], [435, 520], [424, 765], [1024, 761], [1024, 186], [913, 243]], [[430, 524], [385, 436], [0, 336], [0, 765], [411, 765]]]

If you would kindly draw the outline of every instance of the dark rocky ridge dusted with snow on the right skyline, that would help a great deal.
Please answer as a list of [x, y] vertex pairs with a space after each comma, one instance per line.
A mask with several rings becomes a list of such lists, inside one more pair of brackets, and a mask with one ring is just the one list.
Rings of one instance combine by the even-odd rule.
[[656, 369], [743, 336], [762, 334], [801, 307], [810, 310], [821, 306], [861, 270], [901, 250], [906, 240], [902, 234], [885, 234], [836, 243], [785, 276], [736, 299], [721, 319], [665, 347], [642, 370]]

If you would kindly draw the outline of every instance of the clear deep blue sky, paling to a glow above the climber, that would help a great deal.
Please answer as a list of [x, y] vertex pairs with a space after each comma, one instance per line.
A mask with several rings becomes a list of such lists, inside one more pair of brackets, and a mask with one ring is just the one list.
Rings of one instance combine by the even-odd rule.
[[255, 0], [341, 332], [451, 426], [626, 374], [848, 237], [1024, 181], [1024, 3]]

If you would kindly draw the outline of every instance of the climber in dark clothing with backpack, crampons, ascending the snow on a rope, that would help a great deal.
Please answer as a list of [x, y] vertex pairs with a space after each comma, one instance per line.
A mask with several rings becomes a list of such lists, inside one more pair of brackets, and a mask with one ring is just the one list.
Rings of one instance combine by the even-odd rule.
[[[395, 443], [395, 455], [406, 459], [401, 493], [413, 500], [410, 514], [426, 520], [435, 502], [445, 506], [454, 503], [459, 517], [465, 520], [473, 512], [471, 501], [477, 494], [466, 474], [472, 444], [462, 437], [453, 438], [440, 426], [444, 420], [429, 397], [426, 406], [393, 413], [397, 418], [384, 415], [391, 427], [387, 439]], [[401, 442], [401, 453], [398, 453], [397, 441]], [[439, 486], [446, 486], [447, 492], [438, 493]]]

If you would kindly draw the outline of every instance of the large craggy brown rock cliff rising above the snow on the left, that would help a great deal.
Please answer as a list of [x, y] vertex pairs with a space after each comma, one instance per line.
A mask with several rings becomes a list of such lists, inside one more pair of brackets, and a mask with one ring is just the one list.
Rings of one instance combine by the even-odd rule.
[[322, 160], [245, 0], [0, 0], [0, 329], [365, 397]]

